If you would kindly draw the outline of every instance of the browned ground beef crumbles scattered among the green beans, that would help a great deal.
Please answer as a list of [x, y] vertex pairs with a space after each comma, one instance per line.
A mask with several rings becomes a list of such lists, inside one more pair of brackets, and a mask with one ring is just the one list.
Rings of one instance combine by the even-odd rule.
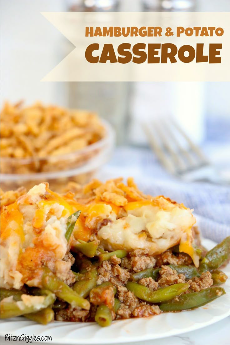
[[[108, 219], [103, 219], [100, 225], [106, 225], [108, 222]], [[197, 234], [197, 237], [199, 240], [199, 234]], [[74, 258], [70, 253], [67, 254], [63, 260], [71, 262], [71, 264], [74, 263]], [[128, 282], [133, 273], [154, 267], [160, 267], [158, 281], [148, 277], [142, 278], [138, 282], [148, 287], [151, 291], [156, 291], [158, 288], [177, 283], [186, 283], [184, 275], [178, 274], [176, 270], [171, 269], [168, 264], [190, 265], [192, 264], [192, 259], [185, 253], [174, 253], [172, 249], [168, 249], [155, 257], [149, 256], [147, 249], [133, 250], [123, 259], [113, 255], [109, 260], [101, 262], [98, 267], [97, 285], [103, 282], [110, 282], [117, 287], [116, 297], [120, 300], [121, 305], [116, 314], [113, 311], [114, 290], [111, 286], [105, 286], [104, 293], [90, 293], [90, 311], [69, 306], [66, 309], [56, 312], [55, 318], [59, 321], [94, 321], [96, 310], [100, 304], [109, 306], [113, 320], [158, 315], [161, 313], [158, 305], [151, 305], [140, 300], [124, 285]], [[211, 278], [211, 273], [206, 272], [202, 273], [200, 277], [194, 277], [188, 280], [187, 283], [190, 284], [190, 288], [193, 291], [197, 292], [210, 287], [213, 284], [213, 280]]]

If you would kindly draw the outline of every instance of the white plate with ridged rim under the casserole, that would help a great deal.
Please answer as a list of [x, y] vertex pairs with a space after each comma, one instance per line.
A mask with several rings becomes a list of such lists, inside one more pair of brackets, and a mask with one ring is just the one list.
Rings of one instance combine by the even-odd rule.
[[[202, 244], [210, 249], [215, 243], [204, 239]], [[230, 264], [224, 269], [230, 278]], [[100, 327], [96, 323], [53, 322], [42, 326], [17, 317], [1, 321], [1, 336], [5, 334], [40, 337], [52, 336], [52, 341], [43, 344], [118, 344], [158, 339], [194, 331], [230, 315], [230, 279], [224, 284], [226, 295], [213, 302], [180, 313], [164, 313], [149, 318], [135, 318], [114, 321], [109, 327]], [[38, 341], [39, 343], [39, 341]]]

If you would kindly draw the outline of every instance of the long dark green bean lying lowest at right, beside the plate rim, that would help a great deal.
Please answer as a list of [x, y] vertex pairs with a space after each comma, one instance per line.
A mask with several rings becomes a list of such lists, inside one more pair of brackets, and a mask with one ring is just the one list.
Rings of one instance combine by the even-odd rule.
[[198, 308], [225, 293], [222, 287], [209, 287], [199, 292], [184, 294], [169, 302], [161, 303], [160, 309], [163, 312], [179, 312], [184, 309]]

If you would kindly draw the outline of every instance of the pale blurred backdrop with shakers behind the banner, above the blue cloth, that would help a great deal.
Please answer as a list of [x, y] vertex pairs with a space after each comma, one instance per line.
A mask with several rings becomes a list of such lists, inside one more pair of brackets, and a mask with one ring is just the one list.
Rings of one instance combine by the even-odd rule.
[[218, 131], [216, 126], [209, 131], [210, 122], [229, 119], [229, 82], [98, 82], [97, 87], [95, 82], [40, 82], [73, 49], [41, 11], [161, 10], [230, 11], [230, 1], [2, 0], [1, 104], [41, 100], [97, 111], [116, 128], [119, 145], [146, 145], [140, 119], [172, 114], [201, 144]]

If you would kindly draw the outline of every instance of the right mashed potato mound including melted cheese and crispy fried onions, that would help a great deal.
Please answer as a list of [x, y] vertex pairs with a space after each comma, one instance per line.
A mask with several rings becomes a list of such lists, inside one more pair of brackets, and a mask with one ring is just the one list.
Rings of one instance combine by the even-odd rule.
[[82, 210], [75, 238], [80, 238], [78, 227], [84, 226], [100, 240], [103, 249], [145, 248], [149, 255], [180, 244], [180, 251], [189, 254], [198, 266], [191, 230], [196, 223], [192, 210], [163, 196], [144, 195], [132, 178], [127, 184], [119, 178], [104, 184], [93, 180], [83, 188], [72, 186]]

